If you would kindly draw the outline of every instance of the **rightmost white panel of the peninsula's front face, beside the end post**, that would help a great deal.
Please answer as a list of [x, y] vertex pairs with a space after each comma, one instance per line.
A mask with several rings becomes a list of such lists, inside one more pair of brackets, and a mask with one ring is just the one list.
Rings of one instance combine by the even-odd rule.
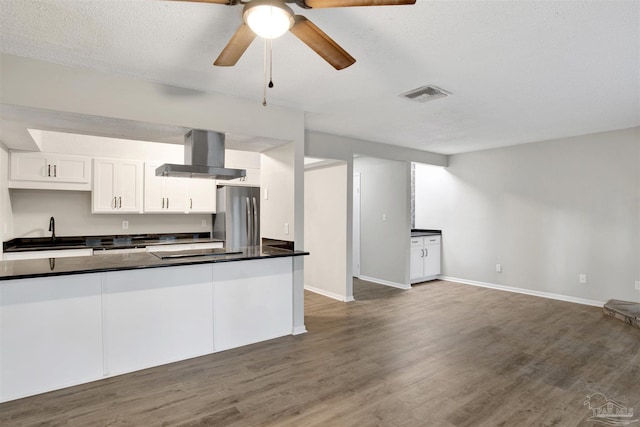
[[291, 265], [292, 258], [214, 264], [216, 351], [291, 334]]

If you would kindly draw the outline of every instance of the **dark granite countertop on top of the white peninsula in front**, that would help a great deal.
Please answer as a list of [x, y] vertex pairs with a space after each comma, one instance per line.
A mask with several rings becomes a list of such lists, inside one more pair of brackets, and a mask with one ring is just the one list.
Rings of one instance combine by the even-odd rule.
[[[195, 253], [195, 251], [190, 252]], [[309, 255], [309, 252], [279, 249], [271, 246], [250, 246], [241, 249], [241, 253], [207, 254], [206, 256], [189, 256], [173, 259], [161, 259], [153, 253], [137, 252], [92, 257], [0, 261], [0, 281], [33, 277], [63, 276], [69, 274], [100, 273], [105, 271], [138, 270], [141, 268], [171, 267], [176, 265], [248, 261], [303, 255]]]

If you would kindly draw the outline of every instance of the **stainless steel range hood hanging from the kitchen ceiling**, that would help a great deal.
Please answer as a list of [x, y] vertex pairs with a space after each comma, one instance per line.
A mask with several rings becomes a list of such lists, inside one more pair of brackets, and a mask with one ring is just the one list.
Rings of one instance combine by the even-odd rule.
[[184, 165], [165, 163], [156, 176], [186, 178], [235, 179], [247, 172], [224, 167], [224, 134], [193, 129], [184, 136]]

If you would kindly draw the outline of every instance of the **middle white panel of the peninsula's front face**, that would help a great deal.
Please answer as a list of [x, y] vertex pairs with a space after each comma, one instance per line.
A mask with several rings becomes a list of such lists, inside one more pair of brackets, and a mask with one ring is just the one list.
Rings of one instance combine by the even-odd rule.
[[211, 264], [107, 273], [108, 374], [212, 353], [211, 282]]

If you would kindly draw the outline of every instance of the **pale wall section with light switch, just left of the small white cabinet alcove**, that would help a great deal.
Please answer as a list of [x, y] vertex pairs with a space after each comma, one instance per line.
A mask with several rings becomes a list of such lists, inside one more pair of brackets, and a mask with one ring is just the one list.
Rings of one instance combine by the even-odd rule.
[[360, 278], [408, 288], [410, 163], [357, 157], [353, 171], [360, 174]]

